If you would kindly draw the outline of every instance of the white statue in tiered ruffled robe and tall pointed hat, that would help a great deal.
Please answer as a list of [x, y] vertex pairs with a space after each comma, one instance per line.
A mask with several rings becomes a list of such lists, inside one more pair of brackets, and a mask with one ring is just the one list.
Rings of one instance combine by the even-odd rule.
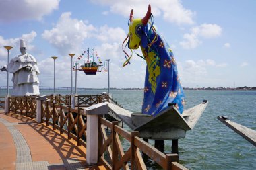
[[[20, 40], [20, 52], [22, 54], [11, 59], [7, 70], [13, 73], [11, 81], [13, 82], [13, 91], [11, 95], [30, 96], [40, 95], [39, 79], [40, 74], [37, 62], [34, 56], [26, 53], [26, 44], [24, 40]], [[2, 67], [1, 71], [5, 68]]]

